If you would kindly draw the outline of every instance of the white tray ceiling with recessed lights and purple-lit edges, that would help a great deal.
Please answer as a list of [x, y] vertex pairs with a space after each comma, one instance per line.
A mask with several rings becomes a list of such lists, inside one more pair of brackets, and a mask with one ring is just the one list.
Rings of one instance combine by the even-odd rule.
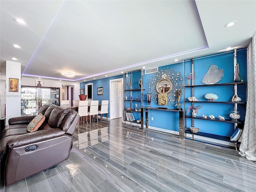
[[[22, 76], [78, 82], [247, 46], [256, 30], [250, 0], [1, 0], [0, 8], [2, 75], [15, 57]], [[237, 24], [225, 28], [231, 21]]]

